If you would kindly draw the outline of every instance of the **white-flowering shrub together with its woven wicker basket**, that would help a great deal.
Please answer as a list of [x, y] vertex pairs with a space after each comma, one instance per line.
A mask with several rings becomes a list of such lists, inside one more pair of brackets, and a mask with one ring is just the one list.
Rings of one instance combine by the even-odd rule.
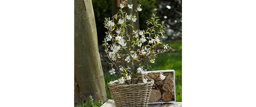
[[[144, 30], [129, 30], [133, 22], [136, 22], [136, 13], [142, 11], [141, 4], [135, 9], [134, 15], [127, 15], [122, 11], [125, 4], [132, 9], [133, 4], [129, 4], [129, 0], [123, 1], [120, 4], [120, 12], [110, 18], [105, 18], [104, 27], [107, 28], [107, 35], [105, 36], [103, 46], [106, 46], [108, 58], [111, 60], [111, 75], [119, 75], [121, 78], [116, 81], [108, 83], [111, 90], [112, 98], [115, 101], [116, 107], [130, 107], [130, 106], [147, 106], [149, 96], [154, 83], [154, 80], [147, 74], [148, 65], [145, 62], [154, 63], [157, 54], [169, 51], [168, 44], [164, 50], [157, 50], [157, 45], [161, 44], [160, 35], [163, 35], [163, 29], [166, 27], [158, 24], [158, 17], [153, 14], [151, 20], [147, 20], [146, 24], [151, 24], [152, 27]], [[114, 20], [118, 20], [117, 27]], [[157, 29], [159, 28], [159, 29]], [[112, 32], [116, 32], [113, 34]], [[146, 35], [146, 36], [145, 36]], [[128, 54], [124, 54], [127, 52]], [[139, 55], [141, 57], [139, 57]], [[147, 68], [147, 69], [146, 69]], [[118, 73], [116, 73], [118, 72]], [[160, 73], [161, 79], [165, 76]]]

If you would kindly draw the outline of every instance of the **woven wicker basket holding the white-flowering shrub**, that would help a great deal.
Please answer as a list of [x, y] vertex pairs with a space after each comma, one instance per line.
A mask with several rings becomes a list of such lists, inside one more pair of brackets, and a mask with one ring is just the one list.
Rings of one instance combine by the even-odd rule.
[[147, 83], [120, 84], [118, 80], [107, 83], [116, 107], [147, 107], [154, 80]]

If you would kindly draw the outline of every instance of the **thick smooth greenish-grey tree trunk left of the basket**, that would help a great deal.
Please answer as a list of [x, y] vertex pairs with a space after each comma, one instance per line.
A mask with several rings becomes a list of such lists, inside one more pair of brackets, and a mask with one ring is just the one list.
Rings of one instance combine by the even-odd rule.
[[74, 0], [74, 103], [107, 100], [91, 0]]

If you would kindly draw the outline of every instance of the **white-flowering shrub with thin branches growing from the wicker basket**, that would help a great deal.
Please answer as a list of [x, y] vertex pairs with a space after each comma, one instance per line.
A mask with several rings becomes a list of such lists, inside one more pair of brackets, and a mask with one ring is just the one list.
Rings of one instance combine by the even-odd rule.
[[[149, 61], [150, 63], [154, 63], [157, 54], [168, 52], [169, 46], [168, 44], [164, 47], [165, 50], [156, 50], [157, 45], [161, 44], [160, 34], [163, 36], [163, 29], [166, 27], [163, 26], [164, 21], [161, 24], [157, 24], [158, 17], [153, 14], [154, 17], [151, 17], [151, 20], [147, 20], [146, 24], [151, 24], [152, 27], [148, 28], [146, 32], [144, 30], [129, 30], [133, 26], [131, 25], [133, 22], [136, 22], [136, 13], [142, 11], [140, 8], [141, 4], [138, 4], [138, 7], [135, 9], [136, 13], [134, 15], [127, 15], [126, 12], [122, 11], [122, 8], [125, 7], [125, 4], [128, 4], [129, 0], [124, 1], [120, 4], [120, 12], [114, 15], [112, 18], [105, 18], [104, 27], [107, 28], [107, 35], [104, 38], [103, 46], [106, 46], [105, 52], [107, 52], [108, 58], [111, 60], [112, 69], [109, 71], [111, 75], [115, 75], [116, 71], [119, 72], [120, 79], [119, 82], [121, 84], [135, 84], [140, 79], [144, 83], [147, 82], [147, 70], [150, 66], [145, 66], [145, 62]], [[128, 4], [128, 8], [132, 9], [133, 4]], [[124, 14], [126, 13], [126, 14]], [[114, 23], [114, 19], [118, 20], [117, 24], [120, 24], [120, 27], [117, 27]], [[159, 28], [157, 30], [156, 28]], [[116, 30], [115, 30], [116, 29]], [[112, 32], [116, 32], [113, 34]], [[149, 35], [149, 37], [145, 37], [145, 34]], [[108, 41], [111, 41], [108, 44]], [[110, 50], [109, 50], [110, 48]], [[124, 52], [128, 52], [128, 54], [123, 54]], [[141, 55], [142, 57], [139, 57]], [[145, 69], [147, 67], [147, 69]], [[161, 79], [165, 79], [165, 76], [160, 73]]]

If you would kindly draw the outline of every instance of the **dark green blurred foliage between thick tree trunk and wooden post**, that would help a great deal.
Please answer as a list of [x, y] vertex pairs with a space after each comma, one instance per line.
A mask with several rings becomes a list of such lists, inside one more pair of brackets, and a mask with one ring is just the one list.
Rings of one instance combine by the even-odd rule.
[[111, 0], [92, 0], [92, 6], [95, 16], [98, 42], [100, 43], [100, 41], [103, 41], [106, 36], [105, 32], [102, 32], [105, 30], [104, 26], [102, 26], [105, 17], [112, 17]]

